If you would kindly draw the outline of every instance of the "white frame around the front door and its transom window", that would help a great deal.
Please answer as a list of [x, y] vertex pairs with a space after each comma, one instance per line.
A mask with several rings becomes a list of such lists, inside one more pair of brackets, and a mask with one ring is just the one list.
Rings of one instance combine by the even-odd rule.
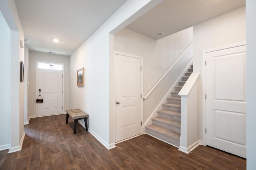
[[[48, 62], [48, 61], [36, 61], [36, 98], [37, 98], [37, 94], [38, 94], [38, 63], [47, 63], [47, 64], [61, 64], [62, 65], [62, 114], [64, 114], [64, 63], [56, 63], [56, 62]], [[36, 101], [36, 100], [35, 100]], [[38, 117], [38, 103], [36, 103], [36, 117]]]

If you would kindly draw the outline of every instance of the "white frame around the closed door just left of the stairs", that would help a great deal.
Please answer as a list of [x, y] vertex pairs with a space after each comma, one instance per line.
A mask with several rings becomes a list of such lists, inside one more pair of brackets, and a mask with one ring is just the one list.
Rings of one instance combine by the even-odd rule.
[[[126, 56], [126, 57], [133, 57], [133, 58], [136, 58], [136, 59], [140, 59], [140, 66], [141, 66], [141, 72], [140, 72], [140, 90], [141, 90], [141, 94], [143, 94], [143, 57], [140, 57], [140, 56], [136, 56], [136, 55], [132, 55], [132, 54], [127, 54], [127, 53], [122, 53], [122, 52], [119, 52], [119, 51], [114, 51], [114, 55], [123, 55], [123, 56]], [[116, 75], [116, 57], [114, 56], [114, 75]], [[116, 101], [116, 76], [114, 76], [114, 98]], [[140, 98], [140, 103], [141, 103], [141, 121], [142, 121], [142, 125], [143, 125], [143, 98], [141, 97]], [[143, 126], [140, 127], [140, 134], [139, 135], [136, 135], [136, 136], [133, 136], [133, 137], [130, 137], [130, 138], [127, 138], [127, 139], [124, 139], [122, 141], [118, 141], [116, 142], [116, 103], [114, 102], [114, 135], [115, 135], [115, 143], [120, 143], [120, 142], [123, 142], [123, 141], [126, 141], [128, 139], [131, 139], [131, 138], [134, 138], [134, 137], [137, 137], [137, 136], [140, 136], [143, 132]]]

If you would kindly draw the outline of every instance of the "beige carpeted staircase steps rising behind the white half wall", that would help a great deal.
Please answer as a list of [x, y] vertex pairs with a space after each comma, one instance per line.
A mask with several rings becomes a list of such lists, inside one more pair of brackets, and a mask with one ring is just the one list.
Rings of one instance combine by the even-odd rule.
[[193, 72], [193, 65], [188, 68], [188, 72], [182, 77], [179, 86], [175, 86], [175, 92], [171, 92], [171, 97], [167, 98], [167, 103], [163, 104], [163, 109], [157, 111], [158, 116], [152, 118], [152, 125], [146, 126], [146, 133], [176, 147], [180, 146], [180, 108], [181, 98], [178, 95], [181, 88]]

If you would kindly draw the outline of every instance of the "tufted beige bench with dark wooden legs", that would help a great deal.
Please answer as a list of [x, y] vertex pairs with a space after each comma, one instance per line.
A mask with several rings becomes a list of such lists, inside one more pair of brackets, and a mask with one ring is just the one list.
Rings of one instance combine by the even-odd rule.
[[66, 124], [68, 124], [68, 117], [72, 117], [74, 119], [74, 134], [76, 134], [76, 122], [80, 119], [84, 119], [85, 129], [88, 131], [88, 124], [87, 118], [89, 115], [80, 109], [67, 109], [67, 117], [66, 117]]

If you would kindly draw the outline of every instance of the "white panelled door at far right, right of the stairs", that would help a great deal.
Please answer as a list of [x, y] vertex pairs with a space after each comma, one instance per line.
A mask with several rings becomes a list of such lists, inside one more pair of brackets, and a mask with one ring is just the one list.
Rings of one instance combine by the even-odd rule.
[[246, 46], [206, 61], [206, 145], [246, 158]]

